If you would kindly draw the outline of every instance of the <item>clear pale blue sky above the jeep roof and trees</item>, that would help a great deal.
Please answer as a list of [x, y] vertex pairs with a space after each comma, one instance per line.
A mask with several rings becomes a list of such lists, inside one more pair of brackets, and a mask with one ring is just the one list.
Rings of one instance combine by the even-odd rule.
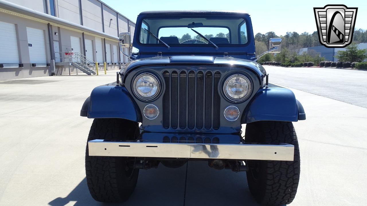
[[102, 0], [131, 21], [136, 21], [142, 11], [152, 10], [244, 10], [252, 19], [254, 33], [273, 31], [278, 36], [286, 32], [316, 31], [313, 7], [327, 4], [345, 4], [358, 7], [355, 27], [367, 29], [367, 1], [358, 0]]

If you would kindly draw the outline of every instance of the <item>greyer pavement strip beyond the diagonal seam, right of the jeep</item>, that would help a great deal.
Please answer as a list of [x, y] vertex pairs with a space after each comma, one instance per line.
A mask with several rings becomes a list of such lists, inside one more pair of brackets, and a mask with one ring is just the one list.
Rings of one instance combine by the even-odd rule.
[[367, 108], [367, 71], [264, 66], [269, 81]]

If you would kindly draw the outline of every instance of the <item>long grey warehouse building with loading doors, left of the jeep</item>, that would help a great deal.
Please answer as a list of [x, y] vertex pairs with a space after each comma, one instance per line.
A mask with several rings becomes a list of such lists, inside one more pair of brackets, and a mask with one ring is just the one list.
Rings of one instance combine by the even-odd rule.
[[134, 30], [99, 0], [0, 0], [0, 80], [119, 69], [119, 33]]

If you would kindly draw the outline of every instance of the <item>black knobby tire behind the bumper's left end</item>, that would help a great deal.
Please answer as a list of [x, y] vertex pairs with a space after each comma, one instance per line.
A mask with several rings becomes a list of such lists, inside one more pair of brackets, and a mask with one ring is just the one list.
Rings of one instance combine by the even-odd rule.
[[[88, 141], [131, 140], [139, 134], [137, 122], [126, 119], [94, 119]], [[135, 189], [138, 169], [127, 167], [126, 157], [97, 157], [88, 155], [86, 148], [86, 176], [89, 192], [99, 202], [124, 202]]]

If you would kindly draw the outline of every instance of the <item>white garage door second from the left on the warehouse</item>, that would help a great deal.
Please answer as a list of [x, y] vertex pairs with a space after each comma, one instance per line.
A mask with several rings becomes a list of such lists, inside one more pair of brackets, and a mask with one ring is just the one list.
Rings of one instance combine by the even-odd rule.
[[30, 63], [47, 63], [44, 31], [27, 27]]

